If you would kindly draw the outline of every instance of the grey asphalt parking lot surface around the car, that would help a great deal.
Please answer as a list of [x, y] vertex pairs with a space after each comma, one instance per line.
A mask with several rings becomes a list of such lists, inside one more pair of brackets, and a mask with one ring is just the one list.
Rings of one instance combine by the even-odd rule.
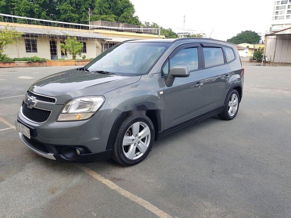
[[244, 64], [237, 117], [154, 142], [125, 167], [38, 156], [13, 128], [39, 78], [74, 66], [0, 69], [0, 217], [291, 217], [291, 67]]

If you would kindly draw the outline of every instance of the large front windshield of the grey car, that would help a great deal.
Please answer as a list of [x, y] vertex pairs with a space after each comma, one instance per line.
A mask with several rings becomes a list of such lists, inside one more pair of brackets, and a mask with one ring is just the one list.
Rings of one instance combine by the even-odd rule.
[[157, 58], [171, 45], [165, 42], [127, 42], [108, 49], [92, 60], [89, 71], [105, 71], [124, 76], [146, 74]]

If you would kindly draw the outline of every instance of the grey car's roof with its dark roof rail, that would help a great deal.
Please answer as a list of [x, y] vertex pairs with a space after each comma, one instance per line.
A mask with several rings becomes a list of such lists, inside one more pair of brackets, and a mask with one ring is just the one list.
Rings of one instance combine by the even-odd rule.
[[217, 39], [208, 39], [208, 38], [192, 38], [192, 37], [185, 37], [185, 38], [178, 38], [178, 39], [140, 39], [140, 40], [127, 40], [124, 41], [124, 43], [126, 42], [168, 42], [168, 43], [175, 43], [175, 42], [185, 42], [185, 43], [216, 43], [216, 44], [223, 44], [223, 45], [233, 45], [235, 46], [235, 44], [231, 43], [231, 42], [226, 42], [226, 41], [222, 41], [222, 40], [217, 40]]

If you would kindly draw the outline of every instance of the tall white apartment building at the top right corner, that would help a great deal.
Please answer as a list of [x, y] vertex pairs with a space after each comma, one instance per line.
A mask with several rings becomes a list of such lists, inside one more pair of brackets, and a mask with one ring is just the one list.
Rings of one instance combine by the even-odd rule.
[[271, 32], [291, 27], [291, 0], [275, 1], [271, 21]]

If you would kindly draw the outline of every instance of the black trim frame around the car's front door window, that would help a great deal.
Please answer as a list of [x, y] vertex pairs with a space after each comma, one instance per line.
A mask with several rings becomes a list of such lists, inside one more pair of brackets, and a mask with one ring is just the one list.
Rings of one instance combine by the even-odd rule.
[[163, 74], [163, 69], [166, 65], [166, 63], [168, 62], [168, 69], [170, 72], [170, 59], [172, 59], [178, 52], [182, 51], [183, 49], [189, 49], [189, 48], [197, 48], [197, 55], [198, 55], [198, 69], [195, 70], [190, 70], [191, 72], [197, 71], [197, 70], [201, 70], [202, 68], [202, 56], [201, 56], [201, 46], [200, 43], [187, 43], [187, 44], [182, 44], [180, 46], [178, 46], [174, 51], [172, 51], [172, 53], [168, 56], [168, 58], [165, 60], [164, 64], [162, 65], [161, 68], [161, 78], [165, 78], [167, 76], [162, 75]]

